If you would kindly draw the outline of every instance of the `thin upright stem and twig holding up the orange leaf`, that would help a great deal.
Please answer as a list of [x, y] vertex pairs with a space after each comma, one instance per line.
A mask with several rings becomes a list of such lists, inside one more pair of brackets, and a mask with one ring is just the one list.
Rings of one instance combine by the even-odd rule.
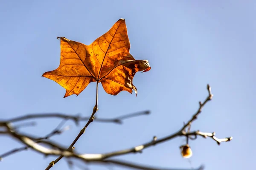
[[[99, 81], [97, 81], [96, 84], [96, 103], [95, 106], [93, 107], [93, 113], [91, 114], [87, 124], [80, 130], [79, 134], [76, 136], [76, 139], [72, 142], [72, 144], [70, 144], [70, 146], [68, 147], [67, 150], [69, 151], [73, 151], [73, 149], [75, 149], [75, 147], [73, 147], [76, 142], [78, 141], [78, 139], [82, 136], [82, 134], [84, 134], [86, 128], [88, 127], [88, 125], [93, 122], [94, 119], [94, 114], [99, 110], [98, 109], [98, 92], [99, 92]], [[61, 160], [64, 156], [61, 155], [59, 156], [57, 159], [55, 159], [55, 161], [52, 161], [49, 163], [49, 165], [45, 168], [45, 170], [49, 170], [51, 167], [53, 167], [53, 165], [55, 165], [59, 160]]]

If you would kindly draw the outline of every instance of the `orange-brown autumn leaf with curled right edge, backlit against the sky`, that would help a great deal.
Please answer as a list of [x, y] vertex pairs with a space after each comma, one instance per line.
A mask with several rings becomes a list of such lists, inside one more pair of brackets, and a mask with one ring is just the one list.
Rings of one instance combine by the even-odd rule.
[[125, 20], [118, 20], [112, 28], [90, 45], [61, 39], [61, 61], [57, 69], [43, 77], [52, 79], [66, 89], [64, 97], [80, 94], [90, 82], [101, 82], [108, 94], [120, 91], [132, 93], [137, 89], [133, 77], [137, 71], [149, 71], [147, 60], [135, 60], [129, 53]]

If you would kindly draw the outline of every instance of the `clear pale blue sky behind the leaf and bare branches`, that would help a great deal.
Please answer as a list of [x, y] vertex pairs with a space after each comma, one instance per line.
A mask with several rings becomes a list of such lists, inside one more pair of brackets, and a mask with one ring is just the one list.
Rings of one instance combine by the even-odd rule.
[[[89, 45], [111, 26], [125, 18], [135, 59], [147, 59], [151, 70], [137, 73], [135, 94], [106, 94], [99, 85], [96, 116], [112, 118], [150, 110], [150, 116], [125, 120], [123, 125], [93, 122], [77, 142], [79, 153], [106, 153], [125, 149], [153, 136], [163, 137], [178, 130], [207, 96], [214, 97], [203, 109], [192, 130], [216, 132], [233, 141], [218, 146], [212, 139], [190, 142], [192, 167], [206, 170], [251, 169], [255, 161], [255, 63], [256, 1], [254, 0], [95, 0], [95, 1], [1, 1], [0, 5], [0, 119], [26, 113], [67, 113], [90, 116], [95, 104], [96, 83], [65, 99], [65, 89], [41, 77], [58, 67], [60, 42], [67, 37]], [[38, 120], [23, 132], [44, 136], [59, 119]], [[68, 146], [79, 127], [52, 139]], [[190, 168], [180, 156], [185, 138], [159, 144], [120, 159], [170, 168]], [[0, 136], [0, 154], [22, 146], [8, 136]], [[55, 157], [32, 150], [16, 153], [0, 162], [1, 170], [44, 169]], [[89, 165], [93, 170], [107, 167]], [[68, 170], [63, 159], [52, 170]], [[74, 168], [76, 170], [78, 168]], [[113, 169], [125, 169], [113, 167]]]

